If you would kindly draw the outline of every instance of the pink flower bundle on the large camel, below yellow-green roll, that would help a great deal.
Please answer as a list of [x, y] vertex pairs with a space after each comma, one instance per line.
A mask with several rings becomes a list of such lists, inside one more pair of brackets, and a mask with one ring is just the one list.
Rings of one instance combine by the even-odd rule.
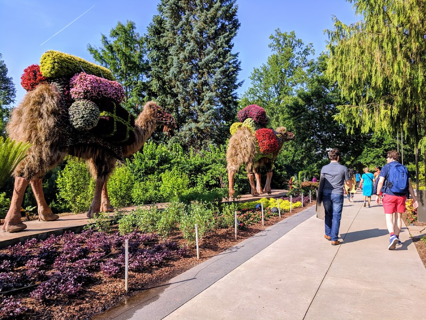
[[113, 100], [121, 103], [124, 98], [124, 90], [117, 81], [88, 75], [81, 72], [70, 80], [71, 96], [74, 100]]

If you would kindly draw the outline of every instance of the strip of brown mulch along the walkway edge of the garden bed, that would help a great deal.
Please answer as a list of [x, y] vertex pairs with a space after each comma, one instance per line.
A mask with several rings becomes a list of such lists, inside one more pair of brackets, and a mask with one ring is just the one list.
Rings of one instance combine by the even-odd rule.
[[[272, 217], [265, 220], [265, 225], [261, 222], [250, 225], [243, 230], [238, 231], [238, 239], [235, 239], [234, 229], [218, 229], [208, 234], [204, 240], [200, 241], [200, 259], [197, 259], [195, 245], [188, 246], [187, 255], [184, 258], [176, 260], [167, 260], [160, 266], [154, 266], [145, 272], [129, 272], [129, 288], [131, 291], [125, 293], [124, 272], [121, 272], [116, 278], [102, 277], [101, 272], [94, 275], [95, 282], [77, 297], [68, 300], [57, 300], [46, 305], [33, 298], [25, 298], [22, 295], [23, 304], [30, 305], [23, 319], [37, 320], [83, 320], [92, 319], [96, 314], [105, 312], [124, 301], [130, 296], [134, 296], [140, 291], [161, 285], [173, 277], [189, 270], [199, 263], [216, 256], [224, 250], [238, 244], [242, 240], [250, 238], [280, 220], [288, 218], [297, 212], [315, 205], [307, 203], [303, 208], [293, 209], [292, 213], [281, 214], [281, 218]], [[180, 245], [186, 244], [179, 232], [168, 238], [178, 242]]]

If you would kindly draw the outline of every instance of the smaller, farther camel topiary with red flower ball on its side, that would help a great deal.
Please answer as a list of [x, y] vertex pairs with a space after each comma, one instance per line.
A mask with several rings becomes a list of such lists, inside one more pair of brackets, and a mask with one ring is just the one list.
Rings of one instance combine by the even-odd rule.
[[[238, 120], [240, 122], [231, 126], [232, 136], [226, 150], [229, 197], [233, 197], [235, 194], [234, 175], [240, 169], [241, 164], [245, 164], [251, 194], [253, 196], [259, 196], [264, 192], [270, 194], [273, 163], [277, 159], [283, 143], [293, 140], [295, 135], [284, 127], [278, 127], [276, 131], [259, 128], [266, 123], [266, 115], [264, 110], [257, 105], [249, 105], [242, 109], [238, 114]], [[261, 166], [265, 166], [267, 171], [263, 190], [259, 173]], [[253, 173], [256, 177], [256, 185]]]

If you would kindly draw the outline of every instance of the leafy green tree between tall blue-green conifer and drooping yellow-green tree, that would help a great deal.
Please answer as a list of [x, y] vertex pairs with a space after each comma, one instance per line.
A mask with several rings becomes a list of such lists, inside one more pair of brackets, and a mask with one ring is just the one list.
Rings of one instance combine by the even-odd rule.
[[275, 30], [269, 37], [272, 55], [266, 64], [254, 68], [248, 88], [241, 99], [241, 106], [259, 104], [271, 118], [271, 126], [288, 125], [285, 105], [292, 103], [296, 91], [305, 85], [307, 69], [312, 65], [312, 43], [305, 45], [296, 38], [294, 31], [282, 33]]

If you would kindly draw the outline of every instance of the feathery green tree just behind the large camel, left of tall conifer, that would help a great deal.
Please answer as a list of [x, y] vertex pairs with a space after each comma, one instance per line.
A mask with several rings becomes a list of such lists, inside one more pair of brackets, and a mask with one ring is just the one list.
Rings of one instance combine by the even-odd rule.
[[145, 38], [136, 32], [135, 23], [117, 23], [110, 32], [111, 40], [102, 35], [100, 48], [88, 44], [93, 59], [112, 71], [125, 91], [123, 105], [138, 114], [144, 101], [148, 101], [149, 63]]

